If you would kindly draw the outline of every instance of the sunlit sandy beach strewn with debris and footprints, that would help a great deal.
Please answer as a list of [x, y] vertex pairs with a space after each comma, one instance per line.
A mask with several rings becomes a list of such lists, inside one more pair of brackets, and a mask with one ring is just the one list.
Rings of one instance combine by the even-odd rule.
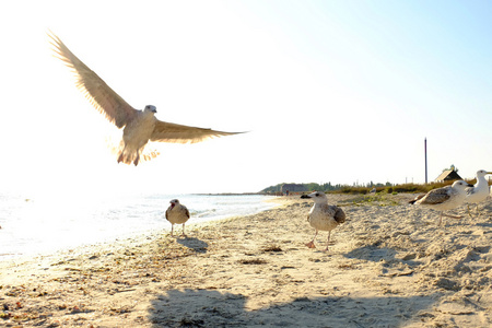
[[[258, 214], [0, 262], [4, 327], [490, 327], [492, 203], [460, 220], [414, 195], [328, 195], [347, 222], [306, 221], [298, 196]], [[473, 207], [475, 209], [475, 207]], [[176, 232], [180, 233], [180, 226]]]

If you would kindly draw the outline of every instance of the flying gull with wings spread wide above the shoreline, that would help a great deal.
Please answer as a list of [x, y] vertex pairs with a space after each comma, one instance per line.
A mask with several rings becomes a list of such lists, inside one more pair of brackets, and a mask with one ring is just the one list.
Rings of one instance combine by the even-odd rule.
[[[159, 153], [144, 153], [145, 145], [152, 142], [195, 143], [221, 136], [241, 132], [223, 132], [211, 129], [188, 127], [166, 122], [155, 118], [155, 106], [147, 105], [143, 110], [134, 109], [122, 97], [113, 91], [94, 71], [86, 67], [61, 39], [48, 34], [57, 57], [75, 74], [77, 86], [91, 104], [117, 128], [124, 129], [118, 149], [118, 163], [133, 163], [150, 160]], [[147, 150], [149, 152], [149, 150]]]

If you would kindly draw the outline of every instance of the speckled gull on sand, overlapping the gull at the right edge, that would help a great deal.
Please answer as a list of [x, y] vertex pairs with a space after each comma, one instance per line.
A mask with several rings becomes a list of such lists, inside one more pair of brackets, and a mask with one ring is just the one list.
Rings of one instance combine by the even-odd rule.
[[461, 219], [462, 216], [455, 216], [449, 214], [443, 214], [443, 211], [453, 210], [464, 203], [467, 197], [466, 189], [468, 187], [473, 187], [464, 180], [457, 180], [453, 183], [452, 186], [446, 186], [437, 189], [433, 189], [425, 195], [418, 196], [415, 199], [411, 200], [410, 203], [415, 203], [419, 206], [427, 207], [441, 212], [440, 223], [443, 222], [443, 215]]

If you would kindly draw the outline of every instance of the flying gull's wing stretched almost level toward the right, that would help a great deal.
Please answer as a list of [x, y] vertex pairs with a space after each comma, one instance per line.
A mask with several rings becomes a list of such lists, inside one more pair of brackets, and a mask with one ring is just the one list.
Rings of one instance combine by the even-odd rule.
[[150, 141], [196, 143], [221, 136], [231, 136], [243, 132], [222, 132], [211, 129], [195, 128], [157, 120]]

